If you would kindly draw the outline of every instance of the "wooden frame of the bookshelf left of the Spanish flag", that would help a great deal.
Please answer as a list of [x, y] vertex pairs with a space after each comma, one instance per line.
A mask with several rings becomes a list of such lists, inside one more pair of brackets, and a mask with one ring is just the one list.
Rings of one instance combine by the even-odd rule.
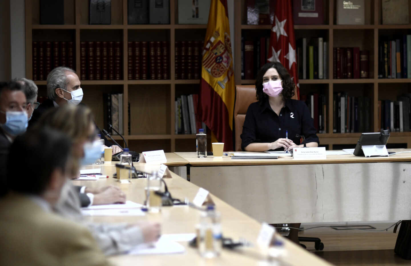
[[[170, 0], [170, 24], [128, 25], [127, 0], [111, 1], [111, 25], [88, 25], [88, 0], [64, 1], [64, 25], [40, 24], [40, 0], [25, 1], [25, 49], [27, 78], [32, 79], [33, 41], [72, 41], [75, 70], [80, 73], [80, 42], [119, 41], [122, 43], [122, 77], [120, 80], [81, 80], [83, 103], [95, 114], [103, 128], [103, 94], [123, 93], [123, 102], [130, 103], [130, 134], [127, 104], [124, 104], [124, 137], [136, 151], [164, 149], [165, 152], [194, 151], [195, 134], [175, 134], [174, 100], [182, 94], [199, 93], [199, 79], [175, 79], [175, 41], [204, 41], [207, 25], [178, 23], [178, 0]], [[169, 42], [169, 77], [164, 80], [127, 79], [127, 42]], [[46, 97], [46, 81], [35, 81], [39, 96]], [[210, 137], [210, 134], [208, 134]], [[120, 136], [113, 138], [122, 145]], [[209, 145], [211, 146], [211, 145]]]

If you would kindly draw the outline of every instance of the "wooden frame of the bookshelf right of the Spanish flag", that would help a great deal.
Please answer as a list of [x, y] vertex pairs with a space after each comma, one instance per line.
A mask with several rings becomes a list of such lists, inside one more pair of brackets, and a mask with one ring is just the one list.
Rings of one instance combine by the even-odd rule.
[[[346, 92], [350, 96], [367, 96], [371, 99], [369, 110], [371, 128], [379, 132], [378, 101], [396, 100], [397, 95], [411, 93], [411, 79], [378, 78], [378, 44], [386, 35], [410, 34], [411, 25], [382, 25], [381, 0], [365, 0], [365, 25], [336, 25], [336, 0], [323, 0], [324, 25], [294, 25], [296, 39], [306, 37], [323, 37], [329, 44], [329, 79], [299, 79], [300, 94], [324, 93], [327, 103], [332, 103], [333, 93]], [[271, 25], [245, 25], [246, 1], [235, 1], [235, 42], [234, 58], [241, 58], [241, 37], [258, 35], [270, 36]], [[411, 0], [409, 1], [411, 7]], [[411, 14], [411, 13], [410, 13]], [[333, 79], [333, 48], [358, 46], [360, 50], [369, 50], [369, 79]], [[235, 65], [236, 84], [254, 84], [255, 80], [241, 79], [241, 64]], [[361, 133], [333, 133], [332, 104], [327, 104], [327, 133], [318, 134], [321, 146], [328, 149], [353, 145]], [[411, 132], [391, 132], [389, 144], [395, 147], [411, 148]], [[355, 146], [355, 145], [354, 145]], [[354, 147], [352, 147], [354, 148]]]

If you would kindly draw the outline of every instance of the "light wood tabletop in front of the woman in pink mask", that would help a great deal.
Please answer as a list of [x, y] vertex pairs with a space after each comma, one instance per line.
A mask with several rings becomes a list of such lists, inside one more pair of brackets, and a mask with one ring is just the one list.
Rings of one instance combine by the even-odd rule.
[[[411, 149], [388, 149], [389, 151], [402, 152]], [[278, 159], [231, 159], [231, 156], [214, 158], [198, 158], [195, 152], [175, 153], [187, 160], [192, 166], [233, 166], [233, 165], [270, 165], [270, 164], [341, 164], [341, 163], [365, 163], [365, 162], [409, 162], [411, 153], [399, 153], [388, 157], [361, 157], [352, 154], [327, 155], [326, 160], [294, 160], [291, 156], [279, 156]], [[267, 153], [268, 155], [268, 153]]]

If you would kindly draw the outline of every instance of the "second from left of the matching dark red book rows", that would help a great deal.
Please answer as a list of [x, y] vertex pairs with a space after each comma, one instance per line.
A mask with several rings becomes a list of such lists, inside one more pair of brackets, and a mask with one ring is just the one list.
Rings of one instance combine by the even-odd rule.
[[122, 42], [80, 42], [80, 79], [123, 79], [122, 57]]

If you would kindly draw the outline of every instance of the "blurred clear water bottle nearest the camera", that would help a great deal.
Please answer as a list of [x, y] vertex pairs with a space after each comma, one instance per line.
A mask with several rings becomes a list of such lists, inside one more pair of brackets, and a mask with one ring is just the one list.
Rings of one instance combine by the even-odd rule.
[[214, 206], [207, 206], [207, 211], [200, 217], [198, 248], [200, 255], [206, 258], [217, 257], [222, 248], [221, 213]]

